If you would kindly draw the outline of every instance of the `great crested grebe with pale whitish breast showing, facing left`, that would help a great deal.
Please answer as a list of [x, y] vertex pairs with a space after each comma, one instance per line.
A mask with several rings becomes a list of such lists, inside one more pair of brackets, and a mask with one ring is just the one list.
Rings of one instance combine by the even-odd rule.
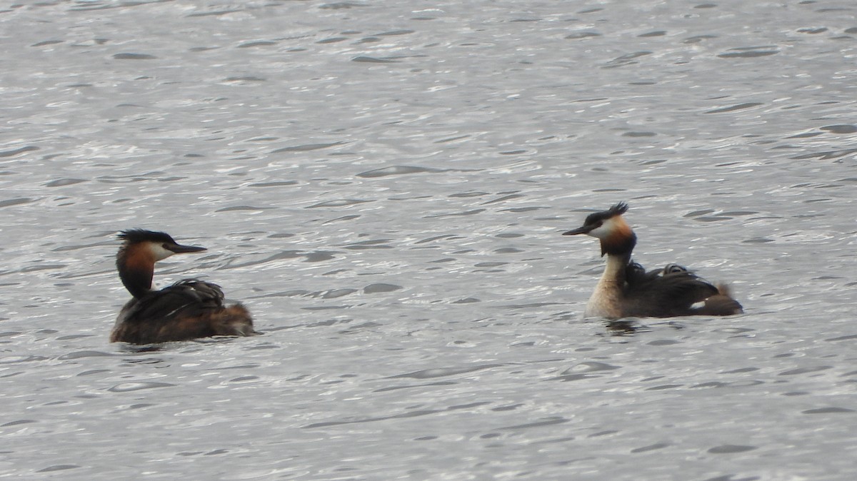
[[586, 317], [672, 318], [729, 316], [743, 312], [726, 285], [714, 286], [677, 264], [646, 272], [632, 262], [637, 235], [622, 218], [624, 202], [586, 217], [584, 225], [563, 235], [585, 234], [601, 241], [607, 266], [586, 303]]

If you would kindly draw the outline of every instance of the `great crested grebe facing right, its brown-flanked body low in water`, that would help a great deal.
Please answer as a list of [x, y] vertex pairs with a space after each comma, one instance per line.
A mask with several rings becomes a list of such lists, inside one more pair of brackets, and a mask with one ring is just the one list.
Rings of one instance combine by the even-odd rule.
[[210, 336], [253, 336], [253, 319], [240, 303], [224, 306], [223, 291], [211, 282], [184, 279], [153, 290], [155, 262], [205, 247], [181, 246], [170, 235], [131, 229], [119, 234], [119, 278], [134, 296], [119, 312], [111, 342], [152, 344]]

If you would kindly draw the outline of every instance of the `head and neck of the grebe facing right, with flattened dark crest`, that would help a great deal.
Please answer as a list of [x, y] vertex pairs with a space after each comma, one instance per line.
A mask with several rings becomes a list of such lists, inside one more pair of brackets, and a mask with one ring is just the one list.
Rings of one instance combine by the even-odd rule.
[[123, 240], [116, 255], [119, 278], [129, 293], [142, 297], [152, 288], [155, 263], [183, 252], [201, 252], [205, 247], [182, 246], [170, 235], [153, 230], [129, 229], [118, 235]]

